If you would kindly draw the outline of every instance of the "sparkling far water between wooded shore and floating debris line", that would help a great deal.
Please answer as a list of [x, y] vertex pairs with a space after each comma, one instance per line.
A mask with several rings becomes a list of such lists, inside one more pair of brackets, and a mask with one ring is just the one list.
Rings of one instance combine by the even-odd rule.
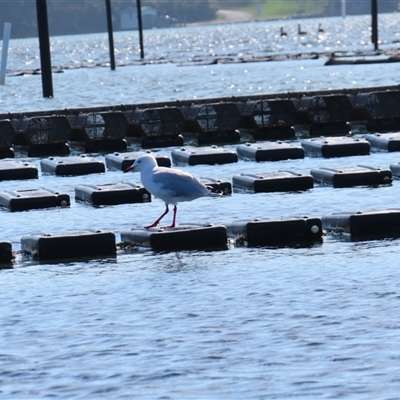
[[[398, 42], [399, 14], [379, 16], [381, 48]], [[307, 31], [299, 35], [297, 25]], [[370, 16], [319, 19], [324, 27], [321, 33], [315, 19], [284, 21], [286, 36], [279, 34], [282, 21], [262, 21], [224, 26], [168, 28], [145, 32], [146, 63], [187, 62], [207, 60], [210, 57], [250, 58], [284, 52], [314, 51], [318, 53], [340, 51], [370, 51]], [[109, 59], [105, 33], [53, 37], [52, 63], [62, 68], [106, 65]], [[136, 32], [115, 32], [116, 63], [135, 64], [139, 61], [139, 40]], [[39, 65], [37, 38], [11, 40], [9, 70], [36, 69]]]

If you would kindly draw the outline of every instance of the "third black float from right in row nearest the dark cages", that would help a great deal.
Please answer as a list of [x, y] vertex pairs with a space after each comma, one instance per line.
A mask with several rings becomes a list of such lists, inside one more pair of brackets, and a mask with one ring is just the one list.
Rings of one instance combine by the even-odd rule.
[[236, 147], [239, 158], [255, 161], [279, 161], [304, 158], [304, 149], [282, 141], [263, 144], [239, 144]]

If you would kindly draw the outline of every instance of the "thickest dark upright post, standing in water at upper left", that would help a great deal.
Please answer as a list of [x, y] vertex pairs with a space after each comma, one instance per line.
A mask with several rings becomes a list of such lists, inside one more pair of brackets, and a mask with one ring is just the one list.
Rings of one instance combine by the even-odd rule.
[[46, 0], [36, 0], [36, 14], [38, 20], [43, 97], [53, 97], [53, 77], [51, 75], [50, 39]]

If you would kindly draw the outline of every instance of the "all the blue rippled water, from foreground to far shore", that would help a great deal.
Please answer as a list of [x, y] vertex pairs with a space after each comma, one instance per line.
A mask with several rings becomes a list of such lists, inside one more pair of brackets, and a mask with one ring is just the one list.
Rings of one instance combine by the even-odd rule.
[[[399, 18], [380, 17], [381, 47], [388, 52], [398, 46]], [[322, 38], [316, 33], [281, 38], [279, 26], [295, 32], [295, 20], [146, 31], [146, 54], [154, 65], [140, 65], [135, 33], [116, 33], [115, 71], [106, 66], [106, 34], [52, 38], [53, 64], [64, 70], [53, 76], [52, 99], [42, 98], [40, 75], [16, 76], [39, 67], [37, 39], [13, 39], [0, 110], [398, 83], [396, 63], [325, 67], [324, 59], [193, 61], [305, 49], [371, 51], [368, 16], [321, 21]], [[316, 31], [315, 19], [301, 23]], [[153, 150], [170, 155], [172, 149]], [[92, 156], [104, 160], [104, 154]], [[40, 159], [17, 158], [40, 171]], [[294, 168], [308, 173], [358, 164], [388, 168], [399, 161], [398, 153], [373, 151], [340, 159], [180, 168], [231, 180], [245, 172]], [[19, 252], [21, 237], [37, 232], [104, 229], [119, 241], [121, 231], [152, 222], [163, 211], [160, 200], [98, 208], [74, 200], [78, 184], [139, 182], [136, 174], [126, 175], [40, 172], [37, 180], [0, 182], [0, 190], [50, 187], [71, 196], [69, 208], [0, 210], [0, 240], [11, 241], [17, 252], [13, 268], [0, 271], [1, 399], [400, 398], [399, 240], [352, 242], [327, 235], [309, 248], [133, 249], [119, 250], [115, 258], [60, 263], [40, 263]], [[233, 193], [182, 203], [178, 223], [322, 217], [399, 208], [399, 198], [398, 180], [377, 188], [316, 185], [302, 193]]]

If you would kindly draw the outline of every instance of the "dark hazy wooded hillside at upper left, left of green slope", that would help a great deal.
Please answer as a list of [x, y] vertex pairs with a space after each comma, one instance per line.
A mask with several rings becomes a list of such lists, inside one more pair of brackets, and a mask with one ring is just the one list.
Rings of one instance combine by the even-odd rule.
[[[136, 8], [136, 0], [111, 2], [113, 30], [120, 27], [120, 12]], [[152, 6], [159, 15], [169, 15], [178, 22], [199, 22], [216, 18], [216, 0], [142, 0], [142, 7]], [[107, 31], [105, 0], [47, 0], [51, 36]], [[0, 37], [5, 22], [11, 22], [11, 37], [37, 36], [36, 0], [0, 0]]]

